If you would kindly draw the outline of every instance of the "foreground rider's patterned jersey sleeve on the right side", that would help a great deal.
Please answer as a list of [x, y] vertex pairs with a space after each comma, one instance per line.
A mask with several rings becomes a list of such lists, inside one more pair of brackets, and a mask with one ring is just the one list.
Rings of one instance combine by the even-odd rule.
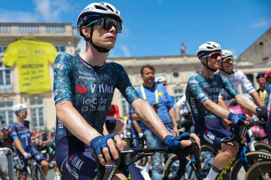
[[118, 70], [118, 82], [116, 87], [121, 92], [126, 101], [130, 105], [132, 105], [132, 103], [136, 99], [140, 98], [140, 96], [136, 89], [132, 86], [130, 79], [126, 71], [124, 70], [123, 66], [117, 64], [116, 69]]

